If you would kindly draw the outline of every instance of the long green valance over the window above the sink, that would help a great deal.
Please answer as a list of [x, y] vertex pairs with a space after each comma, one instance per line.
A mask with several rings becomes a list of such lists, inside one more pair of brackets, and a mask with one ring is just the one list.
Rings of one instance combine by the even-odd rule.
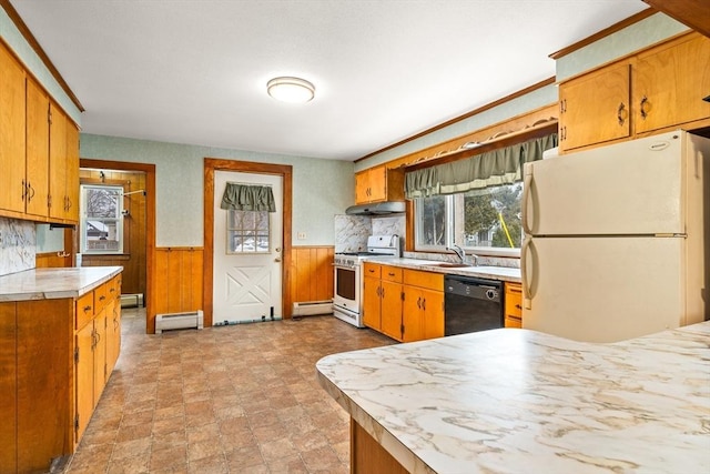
[[523, 179], [523, 164], [557, 147], [557, 133], [449, 163], [405, 173], [405, 196], [425, 198], [510, 184]]

